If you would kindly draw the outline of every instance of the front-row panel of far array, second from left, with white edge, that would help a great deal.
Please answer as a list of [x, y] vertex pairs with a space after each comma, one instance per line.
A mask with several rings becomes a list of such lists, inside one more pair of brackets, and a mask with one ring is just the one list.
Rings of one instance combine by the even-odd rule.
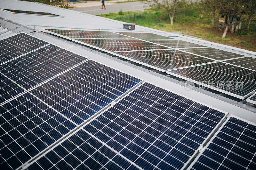
[[139, 39], [73, 39], [73, 41], [108, 53], [114, 51], [167, 49], [167, 47], [141, 41]]

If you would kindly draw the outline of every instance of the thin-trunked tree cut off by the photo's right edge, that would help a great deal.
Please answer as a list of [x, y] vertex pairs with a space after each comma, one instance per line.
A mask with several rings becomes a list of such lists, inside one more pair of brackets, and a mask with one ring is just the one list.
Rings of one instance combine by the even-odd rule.
[[255, 0], [244, 0], [244, 12], [248, 17], [248, 24], [246, 29], [248, 30], [252, 21], [252, 18], [256, 17], [256, 2]]

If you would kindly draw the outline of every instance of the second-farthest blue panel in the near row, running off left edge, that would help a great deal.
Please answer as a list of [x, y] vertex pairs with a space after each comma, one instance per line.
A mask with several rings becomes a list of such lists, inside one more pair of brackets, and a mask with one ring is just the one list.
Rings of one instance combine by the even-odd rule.
[[86, 59], [50, 44], [6, 62], [0, 65], [0, 73], [3, 74], [0, 80], [2, 84], [0, 102], [46, 81]]

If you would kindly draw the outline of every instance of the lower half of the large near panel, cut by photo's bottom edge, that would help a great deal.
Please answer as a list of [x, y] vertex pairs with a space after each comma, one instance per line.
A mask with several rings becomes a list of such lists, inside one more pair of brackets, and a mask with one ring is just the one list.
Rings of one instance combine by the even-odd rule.
[[[131, 162], [93, 137], [84, 129], [79, 130], [43, 157], [28, 170], [40, 169], [138, 169]], [[104, 168], [103, 168], [104, 169]]]

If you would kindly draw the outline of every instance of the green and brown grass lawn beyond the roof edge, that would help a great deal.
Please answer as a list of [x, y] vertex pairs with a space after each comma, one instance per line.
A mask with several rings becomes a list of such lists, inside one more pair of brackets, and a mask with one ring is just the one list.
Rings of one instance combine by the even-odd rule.
[[[174, 17], [174, 24], [170, 25], [170, 20], [165, 11], [160, 9], [147, 9], [145, 11], [129, 11], [109, 13], [99, 15], [101, 17], [116, 19], [127, 23], [136, 23], [167, 32], [181, 32], [186, 35], [199, 37], [212, 42], [235, 46], [250, 51], [256, 51], [256, 24], [252, 23], [250, 30], [241, 33], [228, 33], [226, 38], [221, 38], [223, 32], [216, 29], [219, 15], [215, 18], [215, 27], [211, 29], [211, 13], [206, 13], [201, 19], [200, 7], [198, 4], [191, 4], [180, 9]], [[135, 14], [134, 22], [133, 15]], [[247, 23], [242, 24], [242, 28]]]

